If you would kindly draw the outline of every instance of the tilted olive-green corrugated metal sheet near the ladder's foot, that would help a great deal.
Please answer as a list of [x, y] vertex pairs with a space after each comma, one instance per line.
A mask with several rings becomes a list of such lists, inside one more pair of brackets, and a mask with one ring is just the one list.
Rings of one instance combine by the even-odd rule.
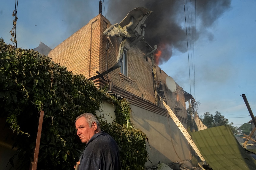
[[193, 132], [192, 139], [213, 170], [256, 170], [256, 160], [238, 143], [229, 126]]

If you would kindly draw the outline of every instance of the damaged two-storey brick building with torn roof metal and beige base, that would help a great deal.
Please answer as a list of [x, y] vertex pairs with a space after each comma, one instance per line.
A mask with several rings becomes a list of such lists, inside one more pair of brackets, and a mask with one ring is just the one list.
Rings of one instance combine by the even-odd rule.
[[[176, 83], [175, 92], [167, 88], [168, 75], [154, 64], [152, 54], [156, 47], [152, 48], [143, 39], [144, 33], [146, 35], [143, 21], [150, 13], [145, 8], [136, 8], [118, 25], [111, 25], [99, 14], [51, 50], [49, 57], [74, 74], [83, 74], [91, 79], [98, 88], [108, 85], [109, 93], [130, 102], [131, 121], [148, 136], [149, 158], [156, 165], [158, 161], [168, 163], [190, 159], [191, 150], [156, 95], [156, 82], [161, 81], [168, 106], [186, 128], [188, 120], [184, 90]], [[113, 29], [110, 29], [111, 26]], [[117, 32], [110, 35], [113, 31]], [[107, 74], [99, 75], [104, 72]], [[113, 105], [106, 101], [102, 101], [102, 110], [102, 114], [115, 117]], [[152, 165], [150, 161], [146, 166]]]

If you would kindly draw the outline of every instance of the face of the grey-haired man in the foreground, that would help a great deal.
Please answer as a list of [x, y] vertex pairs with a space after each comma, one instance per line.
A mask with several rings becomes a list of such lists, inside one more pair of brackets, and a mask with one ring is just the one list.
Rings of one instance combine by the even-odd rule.
[[75, 122], [75, 129], [77, 129], [76, 134], [80, 137], [82, 143], [87, 143], [96, 133], [94, 126], [90, 128], [84, 117], [77, 119]]

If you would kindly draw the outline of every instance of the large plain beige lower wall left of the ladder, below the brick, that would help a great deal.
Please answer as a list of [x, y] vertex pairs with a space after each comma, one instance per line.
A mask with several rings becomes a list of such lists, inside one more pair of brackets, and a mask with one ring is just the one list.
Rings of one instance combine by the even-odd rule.
[[[170, 163], [190, 159], [189, 144], [172, 119], [137, 106], [131, 106], [131, 121], [148, 137], [148, 153], [150, 161], [157, 165], [158, 161]], [[168, 122], [169, 121], [169, 122]], [[186, 125], [183, 124], [186, 128]], [[175, 152], [176, 150], [176, 152]], [[176, 155], [177, 153], [177, 155]], [[152, 166], [148, 161], [146, 166]]]

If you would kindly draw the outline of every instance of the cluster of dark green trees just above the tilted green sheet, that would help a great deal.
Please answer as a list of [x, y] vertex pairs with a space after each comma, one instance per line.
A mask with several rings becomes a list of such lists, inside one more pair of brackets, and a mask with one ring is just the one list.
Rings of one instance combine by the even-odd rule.
[[232, 132], [237, 133], [237, 127], [233, 126], [232, 122], [229, 123], [229, 120], [218, 111], [216, 111], [214, 115], [209, 112], [205, 112], [203, 116], [200, 116], [200, 119], [208, 128], [229, 125]]

